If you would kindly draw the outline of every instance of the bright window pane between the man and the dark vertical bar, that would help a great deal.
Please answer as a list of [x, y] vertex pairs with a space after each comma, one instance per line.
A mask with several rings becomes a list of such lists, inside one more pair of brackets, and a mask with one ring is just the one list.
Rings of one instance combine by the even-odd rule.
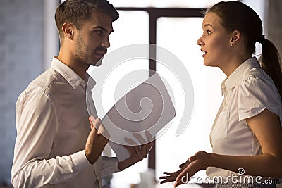
[[[111, 51], [130, 44], [148, 44], [149, 15], [145, 11], [118, 11], [118, 13], [120, 13], [120, 18], [113, 23], [114, 32], [110, 35], [109, 41], [111, 46], [108, 49], [108, 54], [111, 53]], [[107, 66], [107, 64], [106, 62], [103, 62], [97, 70], [103, 70], [105, 66]], [[115, 103], [114, 94], [118, 82], [128, 73], [133, 72], [134, 70], [147, 70], [148, 67], [148, 60], [132, 60], [123, 62], [121, 65], [118, 65], [111, 70], [109, 77], [107, 77], [104, 82], [102, 95], [99, 96], [102, 97], [102, 104], [105, 112]], [[90, 71], [92, 72], [92, 70]], [[98, 77], [94, 77], [94, 79], [99, 80]], [[97, 113], [99, 117], [104, 116], [98, 109]], [[120, 173], [115, 173], [111, 179], [111, 188], [128, 188], [129, 184], [139, 183], [140, 173], [147, 170], [147, 163], [148, 161], [146, 158], [131, 168], [125, 169]]]

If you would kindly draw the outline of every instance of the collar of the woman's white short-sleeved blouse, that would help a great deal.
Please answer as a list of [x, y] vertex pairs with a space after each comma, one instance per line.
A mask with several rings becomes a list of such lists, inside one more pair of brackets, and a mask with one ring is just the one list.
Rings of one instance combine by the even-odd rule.
[[238, 66], [229, 77], [226, 77], [226, 79], [223, 80], [221, 83], [221, 94], [223, 95], [228, 89], [235, 87], [235, 84], [237, 84], [252, 68], [259, 67], [259, 62], [256, 57], [247, 59], [244, 63]]

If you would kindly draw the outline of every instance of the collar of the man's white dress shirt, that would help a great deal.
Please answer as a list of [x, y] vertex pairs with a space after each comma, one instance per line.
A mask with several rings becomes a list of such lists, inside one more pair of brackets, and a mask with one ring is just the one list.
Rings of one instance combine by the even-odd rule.
[[85, 88], [85, 81], [75, 73], [68, 65], [64, 64], [63, 62], [59, 61], [57, 57], [54, 57], [51, 62], [51, 68], [54, 68], [58, 71], [66, 81], [71, 84], [73, 89], [77, 89], [80, 84], [84, 85]]

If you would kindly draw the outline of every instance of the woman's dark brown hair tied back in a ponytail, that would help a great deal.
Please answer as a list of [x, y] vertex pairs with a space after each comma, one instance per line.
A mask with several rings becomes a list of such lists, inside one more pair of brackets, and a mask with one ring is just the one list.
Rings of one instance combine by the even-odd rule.
[[255, 43], [262, 44], [261, 66], [274, 80], [280, 96], [282, 97], [281, 59], [276, 46], [264, 38], [262, 33], [262, 20], [259, 15], [246, 4], [239, 1], [221, 1], [206, 13], [216, 13], [221, 18], [221, 25], [228, 32], [238, 30], [245, 39], [244, 44], [248, 53], [255, 53]]

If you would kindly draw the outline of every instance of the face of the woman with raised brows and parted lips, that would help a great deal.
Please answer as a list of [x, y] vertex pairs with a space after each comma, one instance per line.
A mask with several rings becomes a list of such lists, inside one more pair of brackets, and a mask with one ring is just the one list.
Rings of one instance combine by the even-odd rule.
[[[197, 40], [204, 53], [204, 65], [224, 68], [231, 58], [231, 34], [221, 25], [216, 13], [207, 13], [202, 23], [203, 35]], [[227, 61], [227, 62], [226, 62]]]

